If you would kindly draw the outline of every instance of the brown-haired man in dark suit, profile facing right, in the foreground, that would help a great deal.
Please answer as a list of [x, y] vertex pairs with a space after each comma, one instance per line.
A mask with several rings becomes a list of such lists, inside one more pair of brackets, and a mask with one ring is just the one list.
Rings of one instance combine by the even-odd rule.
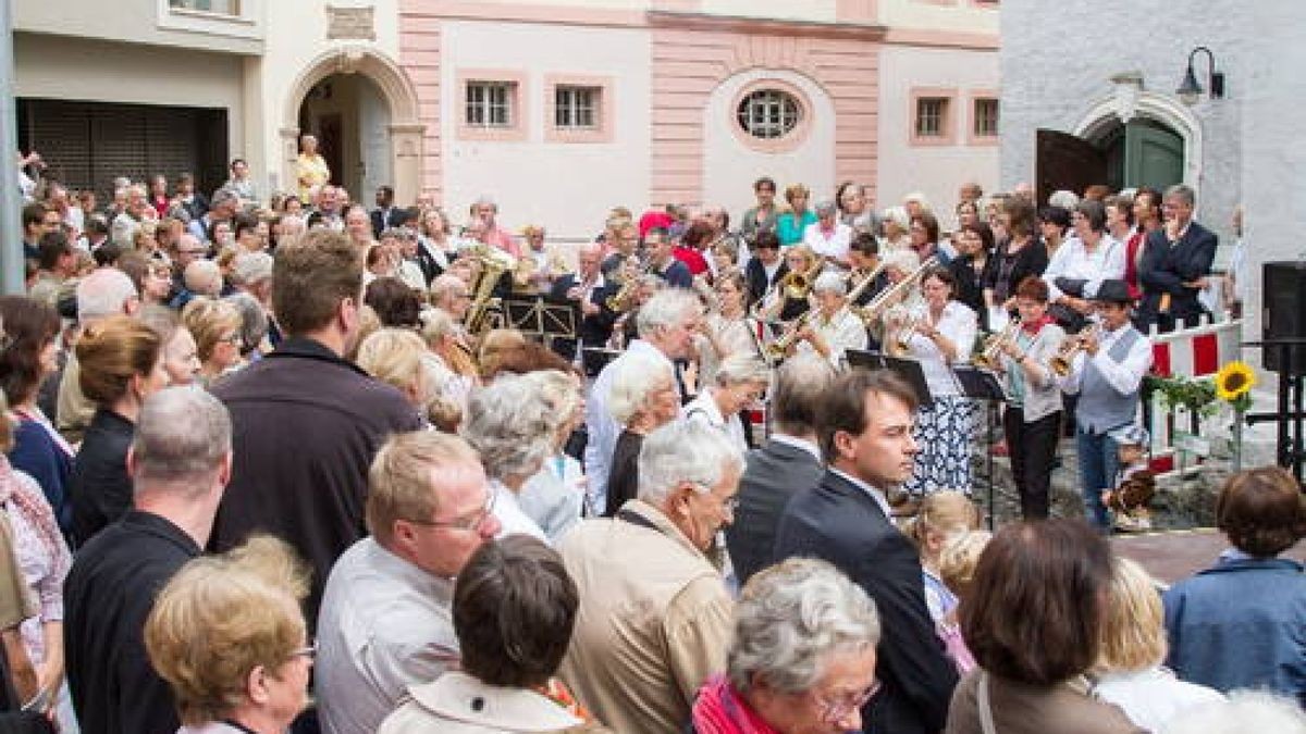
[[876, 677], [883, 688], [862, 709], [865, 731], [943, 730], [957, 670], [925, 606], [916, 547], [889, 522], [884, 490], [912, 475], [916, 394], [887, 371], [855, 370], [821, 398], [818, 436], [829, 470], [785, 507], [774, 560], [833, 563], [875, 599], [883, 636]]

